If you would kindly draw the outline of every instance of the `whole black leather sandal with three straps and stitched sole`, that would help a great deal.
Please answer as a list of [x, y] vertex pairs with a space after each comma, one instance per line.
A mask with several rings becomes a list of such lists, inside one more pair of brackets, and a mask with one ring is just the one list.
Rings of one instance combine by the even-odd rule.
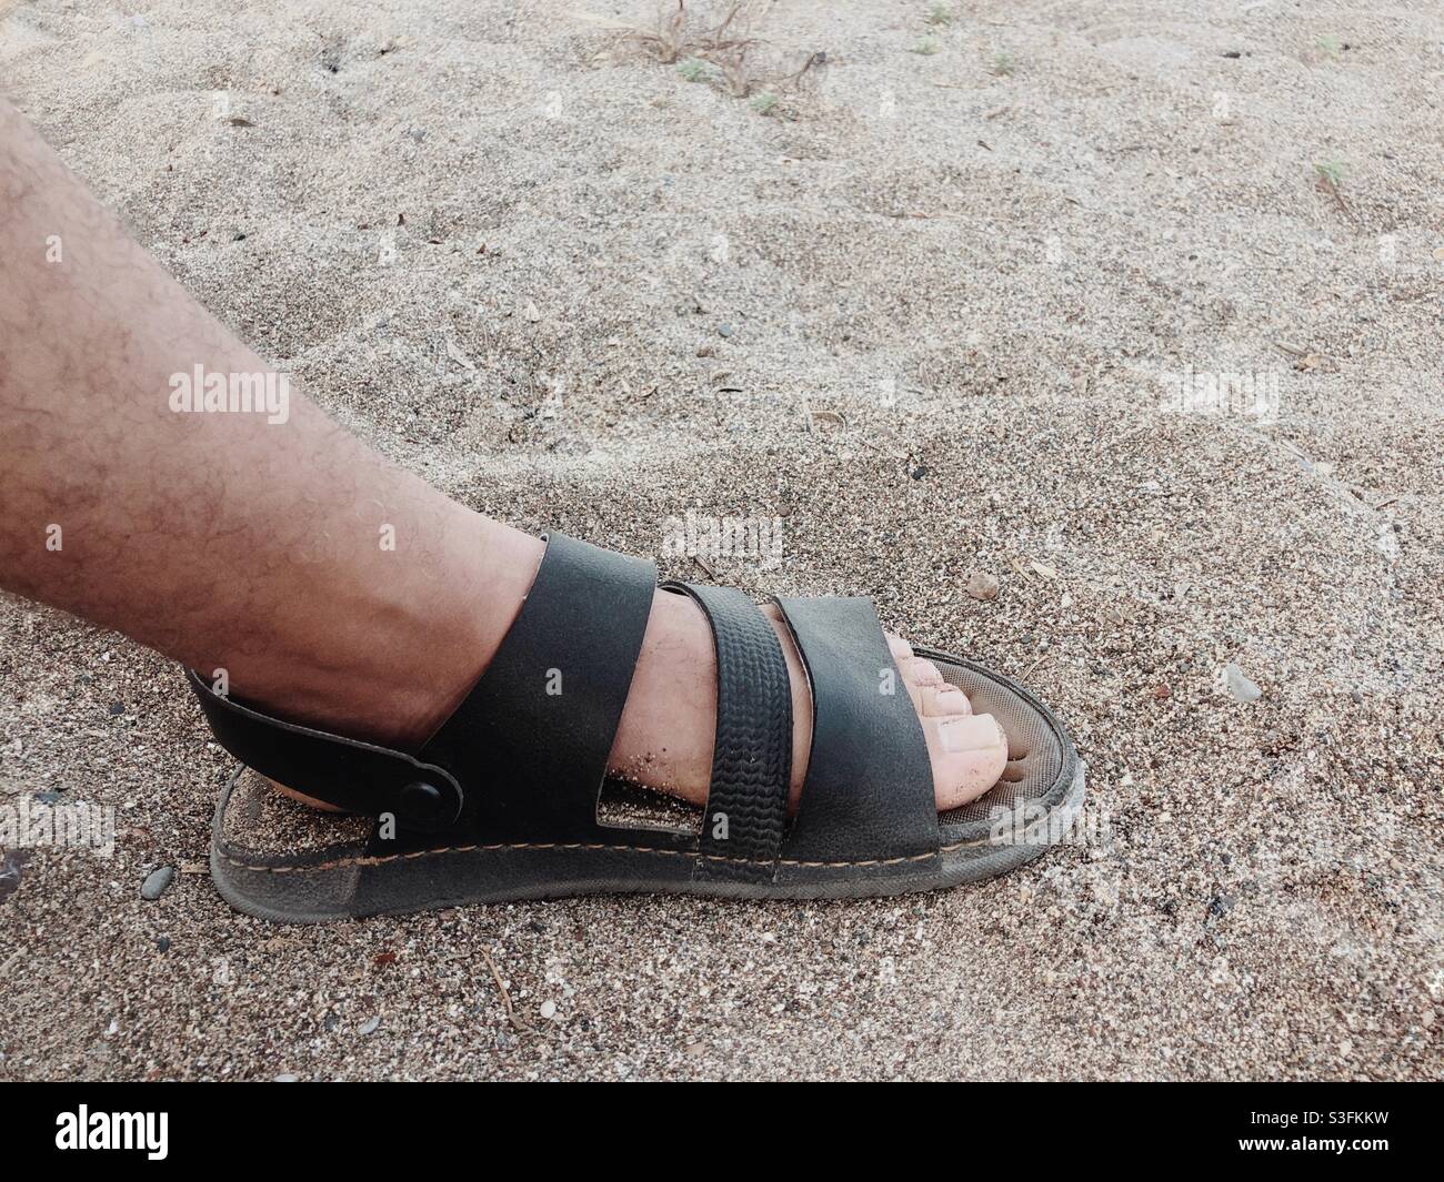
[[1058, 720], [1008, 678], [920, 648], [1011, 743], [995, 788], [937, 813], [921, 726], [866, 599], [775, 600], [803, 655], [816, 719], [788, 821], [793, 719], [777, 635], [741, 592], [682, 583], [664, 586], [702, 606], [716, 642], [706, 810], [693, 811], [693, 824], [599, 820], [604, 788], [624, 791], [606, 759], [656, 586], [654, 564], [552, 534], [495, 660], [414, 756], [269, 717], [192, 673], [228, 752], [296, 792], [373, 818], [354, 840], [257, 853], [228, 836], [238, 769], [215, 814], [211, 869], [221, 893], [279, 921], [585, 892], [890, 895], [1002, 873], [1069, 831], [1083, 763]]

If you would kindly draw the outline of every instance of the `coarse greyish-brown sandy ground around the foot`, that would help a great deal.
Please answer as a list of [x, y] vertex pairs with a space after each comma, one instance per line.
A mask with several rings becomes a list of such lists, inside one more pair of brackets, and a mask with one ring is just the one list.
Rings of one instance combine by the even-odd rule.
[[270, 927], [196, 872], [179, 671], [10, 600], [4, 802], [120, 837], [6, 854], [0, 1078], [1441, 1075], [1444, 13], [930, 12], [777, 3], [747, 97], [645, 0], [12, 13], [6, 91], [360, 434], [640, 553], [783, 518], [718, 577], [1024, 677], [1093, 827], [895, 901]]

